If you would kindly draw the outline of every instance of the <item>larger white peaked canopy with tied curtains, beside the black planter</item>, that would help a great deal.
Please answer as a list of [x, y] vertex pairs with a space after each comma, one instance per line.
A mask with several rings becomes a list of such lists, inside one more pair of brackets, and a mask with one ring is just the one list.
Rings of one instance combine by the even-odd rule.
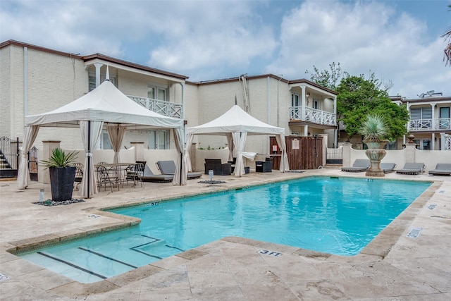
[[[97, 193], [94, 164], [90, 157], [104, 126], [108, 130], [111, 145], [113, 145], [115, 163], [120, 161], [119, 150], [126, 129], [173, 129], [175, 144], [180, 154], [183, 154], [183, 120], [163, 116], [145, 109], [125, 96], [109, 80], [106, 80], [99, 87], [79, 99], [75, 99], [70, 104], [47, 113], [25, 116], [23, 157], [18, 170], [18, 188], [20, 189], [27, 188], [30, 183], [27, 153], [35, 142], [40, 126], [80, 127], [86, 152], [85, 172], [83, 173], [82, 185], [80, 185], [82, 197], [89, 197], [89, 195]], [[177, 166], [173, 184], [186, 185], [187, 169], [182, 159], [178, 160]]]

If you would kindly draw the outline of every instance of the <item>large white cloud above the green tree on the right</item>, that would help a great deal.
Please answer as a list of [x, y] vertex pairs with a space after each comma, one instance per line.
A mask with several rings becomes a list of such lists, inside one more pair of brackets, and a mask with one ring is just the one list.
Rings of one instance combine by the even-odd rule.
[[323, 70], [335, 61], [352, 75], [371, 70], [392, 80], [392, 94], [415, 97], [434, 86], [451, 94], [445, 84], [451, 82], [451, 70], [442, 62], [444, 45], [440, 39], [431, 43], [426, 29], [424, 22], [387, 4], [307, 1], [285, 16], [280, 55], [266, 70], [308, 78], [306, 69], [315, 65]]

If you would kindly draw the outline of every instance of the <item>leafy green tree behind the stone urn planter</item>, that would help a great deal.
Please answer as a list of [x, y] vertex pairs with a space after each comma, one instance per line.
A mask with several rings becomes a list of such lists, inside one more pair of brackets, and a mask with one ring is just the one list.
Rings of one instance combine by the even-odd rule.
[[359, 128], [366, 116], [376, 114], [383, 116], [388, 125], [388, 139], [395, 140], [407, 133], [406, 124], [409, 112], [406, 106], [398, 106], [388, 98], [386, 89], [381, 89], [382, 82], [374, 73], [366, 79], [364, 75], [347, 75], [342, 78], [336, 91], [338, 120], [346, 125], [346, 133], [352, 137], [359, 133]]

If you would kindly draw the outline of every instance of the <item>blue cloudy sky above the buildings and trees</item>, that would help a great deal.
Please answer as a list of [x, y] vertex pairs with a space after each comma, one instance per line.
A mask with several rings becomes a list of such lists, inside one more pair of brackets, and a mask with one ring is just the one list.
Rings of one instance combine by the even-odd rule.
[[340, 63], [390, 95], [451, 96], [440, 37], [451, 0], [1, 0], [0, 42], [104, 54], [189, 81], [273, 73], [310, 79]]

